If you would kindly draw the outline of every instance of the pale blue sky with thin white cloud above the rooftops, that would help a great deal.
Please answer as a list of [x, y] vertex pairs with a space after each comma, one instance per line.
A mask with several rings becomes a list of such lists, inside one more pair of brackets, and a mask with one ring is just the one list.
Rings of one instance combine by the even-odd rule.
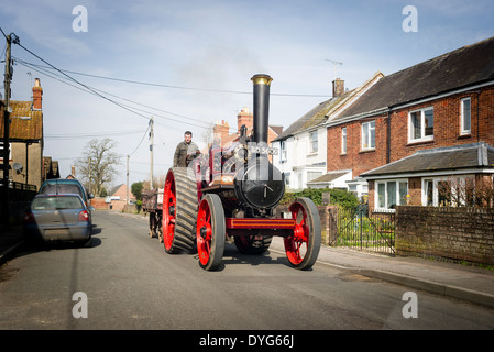
[[[43, 87], [43, 154], [65, 177], [91, 139], [110, 138], [121, 165], [109, 186], [127, 183], [127, 155], [129, 184], [150, 178], [151, 117], [158, 177], [185, 131], [200, 147], [215, 121], [235, 132], [255, 74], [273, 78], [270, 124], [286, 129], [336, 77], [353, 89], [488, 38], [493, 18], [491, 0], [0, 1], [0, 28], [23, 46], [11, 99]], [[4, 48], [0, 36], [2, 61]]]

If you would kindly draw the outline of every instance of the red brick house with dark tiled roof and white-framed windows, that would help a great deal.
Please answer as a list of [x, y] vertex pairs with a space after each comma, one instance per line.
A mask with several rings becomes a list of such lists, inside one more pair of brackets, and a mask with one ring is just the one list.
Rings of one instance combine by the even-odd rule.
[[491, 37], [380, 79], [328, 122], [328, 170], [351, 169], [380, 210], [437, 206], [444, 184], [492, 180], [493, 62]]

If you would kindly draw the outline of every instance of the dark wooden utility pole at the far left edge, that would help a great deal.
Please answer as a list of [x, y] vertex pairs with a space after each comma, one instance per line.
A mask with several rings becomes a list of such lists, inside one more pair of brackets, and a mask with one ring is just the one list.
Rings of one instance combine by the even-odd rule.
[[11, 35], [7, 35], [7, 48], [6, 48], [6, 74], [4, 74], [4, 110], [3, 110], [3, 206], [2, 206], [2, 213], [3, 213], [3, 224], [6, 227], [9, 226], [9, 218], [10, 218], [10, 209], [9, 209], [9, 127], [10, 127], [10, 80], [12, 79], [12, 66], [11, 66], [11, 58], [10, 58], [10, 51], [11, 51], [11, 43], [12, 37]]

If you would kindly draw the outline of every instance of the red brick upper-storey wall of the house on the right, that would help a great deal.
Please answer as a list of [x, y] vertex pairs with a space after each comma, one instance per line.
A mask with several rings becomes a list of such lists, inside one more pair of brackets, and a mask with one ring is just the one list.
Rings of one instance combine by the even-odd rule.
[[[471, 97], [471, 134], [460, 135], [461, 99]], [[433, 107], [433, 140], [408, 143], [408, 113]], [[362, 152], [361, 124], [375, 120], [375, 151]], [[347, 154], [341, 154], [341, 129], [347, 127]], [[328, 129], [328, 170], [353, 169], [353, 177], [386, 164], [387, 114]], [[415, 105], [391, 113], [389, 162], [419, 150], [484, 141], [494, 146], [494, 86]]]

